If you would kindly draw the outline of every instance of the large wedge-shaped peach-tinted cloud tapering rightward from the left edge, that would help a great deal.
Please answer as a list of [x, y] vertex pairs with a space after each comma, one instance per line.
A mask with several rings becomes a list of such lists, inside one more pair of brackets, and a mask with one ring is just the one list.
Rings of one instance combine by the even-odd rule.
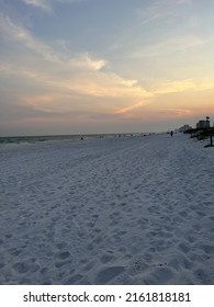
[[99, 107], [113, 114], [119, 109], [131, 110], [150, 95], [137, 80], [111, 71], [106, 59], [89, 53], [57, 52], [3, 14], [0, 27], [11, 50], [10, 58], [0, 60], [0, 70], [10, 80], [19, 79], [18, 92], [27, 107], [60, 113], [77, 110], [79, 104], [82, 111], [95, 110], [100, 99]]

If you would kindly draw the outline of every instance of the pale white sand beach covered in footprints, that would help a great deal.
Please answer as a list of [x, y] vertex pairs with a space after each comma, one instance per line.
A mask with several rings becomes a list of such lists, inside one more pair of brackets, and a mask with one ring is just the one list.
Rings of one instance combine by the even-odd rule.
[[214, 148], [2, 145], [0, 171], [0, 284], [214, 284]]

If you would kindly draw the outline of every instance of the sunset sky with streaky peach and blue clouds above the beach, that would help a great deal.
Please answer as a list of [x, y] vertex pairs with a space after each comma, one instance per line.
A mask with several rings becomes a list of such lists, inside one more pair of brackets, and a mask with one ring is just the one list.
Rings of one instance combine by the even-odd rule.
[[0, 136], [214, 120], [213, 0], [0, 0]]

